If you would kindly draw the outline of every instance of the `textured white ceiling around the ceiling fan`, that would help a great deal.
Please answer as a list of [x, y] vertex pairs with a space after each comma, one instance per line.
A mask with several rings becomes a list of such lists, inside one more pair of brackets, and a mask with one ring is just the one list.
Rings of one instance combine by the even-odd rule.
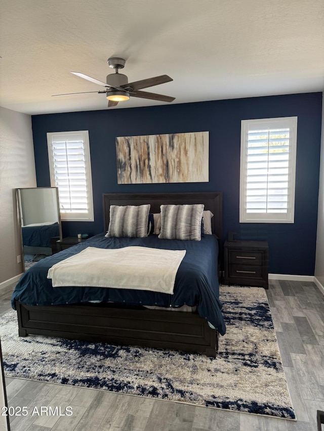
[[[173, 104], [324, 89], [323, 0], [1, 0], [0, 106], [27, 114], [107, 109], [108, 57]], [[115, 108], [164, 105], [132, 98]]]

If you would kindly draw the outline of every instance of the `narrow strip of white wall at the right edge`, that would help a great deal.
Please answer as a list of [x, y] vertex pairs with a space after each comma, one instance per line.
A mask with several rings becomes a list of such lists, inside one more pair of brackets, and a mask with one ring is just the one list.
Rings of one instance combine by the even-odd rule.
[[324, 98], [322, 100], [322, 130], [318, 193], [315, 277], [324, 286]]

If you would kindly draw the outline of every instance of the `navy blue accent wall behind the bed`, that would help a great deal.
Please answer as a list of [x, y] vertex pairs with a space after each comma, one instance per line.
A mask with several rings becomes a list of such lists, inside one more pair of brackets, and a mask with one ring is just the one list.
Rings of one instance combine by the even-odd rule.
[[[75, 96], [77, 97], [77, 96]], [[103, 231], [103, 193], [223, 191], [223, 232], [267, 240], [269, 272], [313, 275], [322, 93], [32, 116], [38, 186], [49, 186], [47, 132], [89, 130], [94, 222], [63, 222], [63, 235]], [[125, 102], [126, 104], [127, 102]], [[240, 122], [298, 116], [295, 223], [239, 223]], [[209, 131], [208, 183], [117, 184], [116, 136]]]

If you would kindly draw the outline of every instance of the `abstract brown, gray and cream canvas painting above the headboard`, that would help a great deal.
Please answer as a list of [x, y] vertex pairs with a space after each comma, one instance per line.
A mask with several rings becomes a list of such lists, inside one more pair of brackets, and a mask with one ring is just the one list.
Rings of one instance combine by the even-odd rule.
[[118, 184], [208, 182], [209, 132], [116, 137]]

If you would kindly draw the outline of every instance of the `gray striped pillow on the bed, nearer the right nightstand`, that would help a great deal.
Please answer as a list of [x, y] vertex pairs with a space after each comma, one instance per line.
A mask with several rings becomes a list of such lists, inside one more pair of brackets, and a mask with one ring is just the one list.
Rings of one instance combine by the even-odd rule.
[[204, 205], [161, 205], [161, 233], [164, 240], [201, 240]]

